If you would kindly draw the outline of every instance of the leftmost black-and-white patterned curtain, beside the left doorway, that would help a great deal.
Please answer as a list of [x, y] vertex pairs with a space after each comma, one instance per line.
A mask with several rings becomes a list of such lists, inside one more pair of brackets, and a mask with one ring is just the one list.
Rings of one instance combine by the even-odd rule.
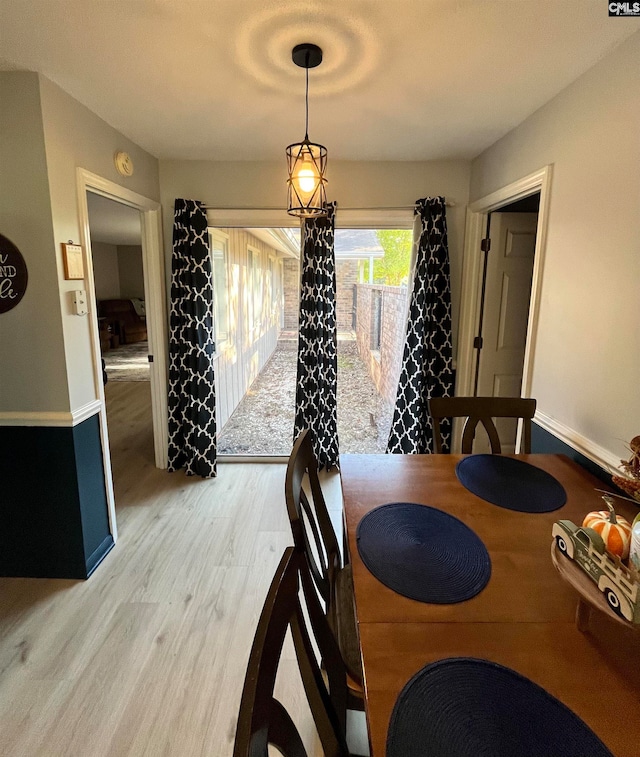
[[169, 470], [216, 475], [213, 279], [207, 214], [176, 200], [169, 335]]

